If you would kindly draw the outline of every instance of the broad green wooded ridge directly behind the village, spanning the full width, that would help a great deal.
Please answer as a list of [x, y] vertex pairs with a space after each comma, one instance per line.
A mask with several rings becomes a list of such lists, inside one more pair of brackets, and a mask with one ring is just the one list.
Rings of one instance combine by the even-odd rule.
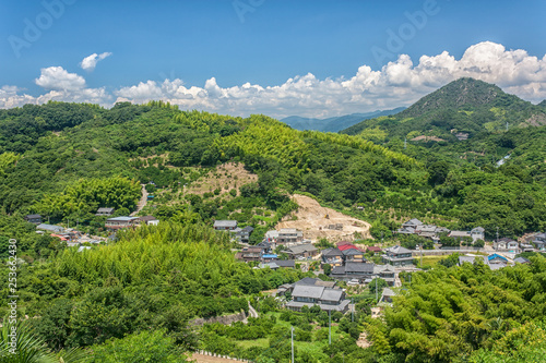
[[[499, 227], [517, 237], [546, 227], [544, 128], [518, 130], [485, 137], [498, 155], [482, 156], [475, 145], [474, 160], [453, 157], [459, 152], [450, 148], [378, 145], [361, 136], [297, 131], [265, 116], [180, 111], [158, 101], [111, 109], [27, 105], [0, 110], [0, 206], [19, 218], [38, 213], [51, 222], [99, 226], [98, 207], [127, 215], [140, 197], [139, 183], [153, 181], [155, 208], [144, 213], [206, 223], [237, 219], [257, 228], [257, 241], [295, 207], [294, 192], [358, 215], [376, 237], [406, 218], [482, 226], [487, 235]], [[244, 165], [258, 181], [187, 192], [202, 187], [202, 176], [218, 176], [225, 162]]]

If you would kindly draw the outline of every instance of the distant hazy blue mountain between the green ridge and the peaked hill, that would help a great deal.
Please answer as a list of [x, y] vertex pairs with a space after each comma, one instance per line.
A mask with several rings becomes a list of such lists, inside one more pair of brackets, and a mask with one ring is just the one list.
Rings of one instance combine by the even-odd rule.
[[390, 116], [403, 111], [405, 107], [399, 107], [393, 110], [378, 110], [367, 113], [352, 113], [345, 116], [339, 116], [328, 119], [313, 119], [313, 118], [302, 118], [299, 116], [290, 116], [282, 119], [281, 121], [286, 123], [296, 130], [316, 130], [323, 132], [337, 132], [352, 125], [372, 118], [378, 118], [380, 116]]

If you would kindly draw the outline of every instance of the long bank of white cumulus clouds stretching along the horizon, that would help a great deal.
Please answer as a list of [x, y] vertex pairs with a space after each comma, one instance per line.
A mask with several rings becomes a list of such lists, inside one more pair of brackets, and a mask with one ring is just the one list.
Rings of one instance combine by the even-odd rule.
[[[261, 86], [245, 83], [222, 87], [215, 77], [200, 86], [186, 85], [181, 80], [144, 81], [118, 88], [112, 95], [104, 88], [85, 88], [85, 80], [62, 68], [41, 70], [36, 84], [50, 90], [33, 98], [109, 104], [116, 101], [145, 102], [162, 99], [182, 109], [199, 109], [234, 116], [265, 113], [282, 118], [290, 114], [331, 117], [410, 106], [420, 97], [447, 83], [470, 76], [495, 83], [506, 92], [523, 99], [541, 101], [546, 98], [546, 56], [542, 59], [525, 50], [507, 50], [502, 45], [479, 43], [466, 49], [461, 59], [443, 51], [412, 60], [401, 55], [380, 70], [361, 65], [346, 78], [317, 78], [313, 74], [297, 75], [281, 85]], [[21, 89], [2, 87], [0, 107], [27, 102]]]

